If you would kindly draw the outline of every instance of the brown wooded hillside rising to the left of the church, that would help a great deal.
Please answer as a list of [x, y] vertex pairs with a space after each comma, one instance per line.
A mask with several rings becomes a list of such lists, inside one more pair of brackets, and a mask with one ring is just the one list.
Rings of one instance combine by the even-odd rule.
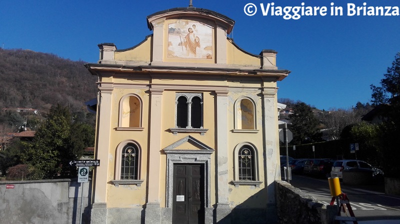
[[54, 54], [0, 48], [0, 108], [33, 108], [47, 113], [60, 103], [86, 111], [96, 97], [96, 77], [83, 66]]

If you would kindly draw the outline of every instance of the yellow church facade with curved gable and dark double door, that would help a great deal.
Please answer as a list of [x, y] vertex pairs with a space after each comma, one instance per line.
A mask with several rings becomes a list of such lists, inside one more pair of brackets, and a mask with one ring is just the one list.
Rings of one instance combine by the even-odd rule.
[[98, 44], [85, 64], [99, 91], [91, 224], [275, 223], [276, 82], [289, 71], [274, 50], [238, 47], [215, 11], [172, 8], [147, 25], [141, 43]]

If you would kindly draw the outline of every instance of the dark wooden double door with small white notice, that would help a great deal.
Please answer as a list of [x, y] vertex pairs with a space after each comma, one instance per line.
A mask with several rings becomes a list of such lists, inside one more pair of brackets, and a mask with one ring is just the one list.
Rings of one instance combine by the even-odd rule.
[[173, 165], [172, 224], [204, 223], [204, 164]]

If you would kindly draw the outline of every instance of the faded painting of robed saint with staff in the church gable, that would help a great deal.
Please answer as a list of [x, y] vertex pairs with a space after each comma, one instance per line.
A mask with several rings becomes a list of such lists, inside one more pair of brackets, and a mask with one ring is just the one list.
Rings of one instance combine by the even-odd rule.
[[212, 27], [190, 20], [168, 24], [168, 58], [212, 59]]

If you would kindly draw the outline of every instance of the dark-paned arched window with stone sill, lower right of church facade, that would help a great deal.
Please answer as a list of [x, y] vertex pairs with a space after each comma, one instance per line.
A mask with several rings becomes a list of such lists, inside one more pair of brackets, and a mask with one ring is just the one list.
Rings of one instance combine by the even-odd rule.
[[255, 146], [243, 142], [234, 148], [234, 186], [254, 185], [259, 187], [262, 181], [258, 180], [258, 155]]

